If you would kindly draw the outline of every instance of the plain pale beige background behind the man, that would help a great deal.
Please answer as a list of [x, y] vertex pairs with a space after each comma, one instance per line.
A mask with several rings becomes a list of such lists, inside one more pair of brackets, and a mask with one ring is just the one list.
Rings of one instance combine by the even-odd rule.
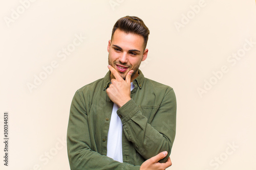
[[[38, 0], [25, 6], [18, 0], [0, 5], [2, 139], [4, 111], [10, 126], [9, 166], [3, 165], [1, 142], [0, 169], [69, 169], [71, 100], [78, 88], [108, 71], [108, 40], [125, 15], [141, 17], [151, 31], [143, 74], [177, 95], [168, 169], [255, 169], [255, 1]], [[73, 49], [80, 35], [86, 39]], [[72, 52], [64, 59], [61, 50], [67, 47]], [[242, 57], [230, 58], [236, 53]], [[56, 68], [44, 75], [43, 67], [54, 61]], [[215, 78], [213, 71], [223, 66], [223, 75]], [[29, 90], [27, 84], [39, 75], [45, 80]]]

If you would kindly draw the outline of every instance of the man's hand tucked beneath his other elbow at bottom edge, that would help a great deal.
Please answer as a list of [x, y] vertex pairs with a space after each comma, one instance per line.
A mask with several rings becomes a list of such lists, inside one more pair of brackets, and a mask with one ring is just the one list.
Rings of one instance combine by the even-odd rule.
[[142, 163], [142, 165], [140, 166], [140, 170], [164, 170], [167, 167], [172, 165], [172, 161], [170, 161], [170, 157], [167, 159], [167, 161], [165, 163], [160, 163], [158, 162], [159, 160], [163, 159], [165, 156], [167, 155], [167, 152], [161, 152], [159, 154], [157, 154], [156, 156], [147, 159], [145, 162]]

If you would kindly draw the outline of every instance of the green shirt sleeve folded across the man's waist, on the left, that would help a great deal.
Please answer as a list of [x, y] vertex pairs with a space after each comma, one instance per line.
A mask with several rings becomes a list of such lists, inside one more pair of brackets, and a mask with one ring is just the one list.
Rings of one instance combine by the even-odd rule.
[[72, 170], [140, 169], [140, 166], [115, 161], [90, 149], [87, 112], [79, 91], [76, 91], [71, 103], [67, 147], [70, 168]]

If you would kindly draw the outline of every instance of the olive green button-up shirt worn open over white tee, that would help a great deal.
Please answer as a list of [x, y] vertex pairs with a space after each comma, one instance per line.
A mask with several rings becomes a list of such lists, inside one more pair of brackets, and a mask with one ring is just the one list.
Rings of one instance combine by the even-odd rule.
[[139, 169], [162, 151], [169, 157], [176, 133], [173, 88], [139, 76], [131, 100], [117, 110], [123, 125], [123, 163], [106, 156], [113, 102], [106, 94], [110, 71], [104, 78], [76, 91], [71, 103], [67, 145], [71, 169]]

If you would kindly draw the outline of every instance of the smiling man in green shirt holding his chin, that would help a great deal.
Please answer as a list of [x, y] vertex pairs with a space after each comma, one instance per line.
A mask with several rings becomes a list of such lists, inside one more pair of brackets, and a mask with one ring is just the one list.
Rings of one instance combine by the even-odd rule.
[[[176, 98], [144, 78], [150, 31], [135, 16], [120, 18], [108, 44], [109, 72], [76, 91], [68, 125], [71, 169], [165, 169], [176, 132]], [[157, 71], [157, 70], [156, 70]]]

